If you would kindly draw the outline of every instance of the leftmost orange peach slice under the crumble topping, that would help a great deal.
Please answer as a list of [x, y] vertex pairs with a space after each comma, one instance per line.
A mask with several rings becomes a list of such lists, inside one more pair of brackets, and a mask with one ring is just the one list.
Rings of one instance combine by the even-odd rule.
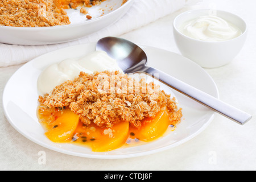
[[51, 129], [45, 133], [46, 137], [52, 142], [63, 142], [72, 137], [78, 123], [79, 115], [64, 109], [60, 117], [51, 122]]

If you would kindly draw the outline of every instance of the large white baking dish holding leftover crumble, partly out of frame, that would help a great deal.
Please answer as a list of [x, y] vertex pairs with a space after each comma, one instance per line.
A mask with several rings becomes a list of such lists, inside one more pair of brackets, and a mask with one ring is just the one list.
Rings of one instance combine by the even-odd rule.
[[[19, 45], [46, 45], [68, 42], [93, 34], [121, 18], [133, 5], [134, 0], [106, 0], [90, 7], [92, 19], [80, 14], [80, 10], [66, 10], [71, 24], [55, 27], [7, 27], [0, 26], [0, 43]], [[121, 6], [122, 5], [122, 6]], [[104, 15], [102, 15], [104, 11]]]

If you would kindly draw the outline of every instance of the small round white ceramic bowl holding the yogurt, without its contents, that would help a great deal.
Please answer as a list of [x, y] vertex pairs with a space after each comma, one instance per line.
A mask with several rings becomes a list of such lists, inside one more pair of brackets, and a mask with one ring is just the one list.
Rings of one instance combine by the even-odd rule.
[[209, 42], [190, 38], [178, 30], [187, 20], [209, 15], [211, 12], [212, 10], [207, 9], [190, 10], [178, 15], [173, 24], [175, 42], [181, 54], [203, 68], [216, 68], [230, 63], [241, 51], [247, 35], [247, 25], [242, 18], [220, 10], [215, 11], [216, 15], [240, 28], [242, 35], [231, 40]]

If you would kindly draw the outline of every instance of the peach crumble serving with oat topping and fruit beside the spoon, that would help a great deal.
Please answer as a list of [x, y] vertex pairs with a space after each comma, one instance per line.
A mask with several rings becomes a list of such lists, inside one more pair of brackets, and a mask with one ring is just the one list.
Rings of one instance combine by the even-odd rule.
[[150, 142], [173, 131], [182, 117], [176, 99], [159, 85], [119, 71], [80, 72], [38, 101], [48, 139], [94, 152]]

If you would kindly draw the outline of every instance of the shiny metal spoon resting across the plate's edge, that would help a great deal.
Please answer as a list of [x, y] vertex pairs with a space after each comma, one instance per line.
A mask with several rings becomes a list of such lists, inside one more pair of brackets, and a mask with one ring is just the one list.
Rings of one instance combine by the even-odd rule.
[[177, 78], [167, 75], [158, 69], [146, 67], [146, 53], [139, 46], [128, 40], [116, 37], [102, 38], [97, 42], [96, 50], [108, 53], [110, 57], [117, 60], [119, 67], [127, 74], [144, 72], [152, 75], [157, 73], [159, 81], [240, 125], [244, 125], [252, 118], [250, 114], [230, 106]]

